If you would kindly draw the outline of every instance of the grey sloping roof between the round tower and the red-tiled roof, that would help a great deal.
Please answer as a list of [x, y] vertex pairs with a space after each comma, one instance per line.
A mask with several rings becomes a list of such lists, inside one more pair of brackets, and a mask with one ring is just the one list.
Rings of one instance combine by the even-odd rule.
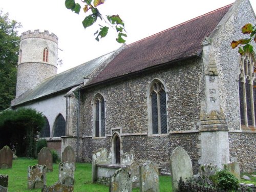
[[14, 99], [11, 105], [15, 106], [78, 86], [80, 83], [83, 82], [83, 77], [87, 77], [92, 74], [96, 68], [98, 68], [113, 54], [114, 52], [105, 54], [96, 59], [83, 63], [80, 66], [74, 67], [70, 70], [47, 78], [45, 81], [38, 84], [32, 90]]

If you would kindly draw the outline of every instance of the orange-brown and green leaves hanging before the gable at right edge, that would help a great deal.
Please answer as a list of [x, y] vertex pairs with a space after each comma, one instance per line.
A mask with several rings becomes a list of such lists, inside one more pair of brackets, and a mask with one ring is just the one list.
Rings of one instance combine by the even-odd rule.
[[242, 27], [242, 33], [249, 34], [250, 36], [244, 39], [233, 40], [230, 46], [233, 49], [239, 46], [238, 52], [240, 55], [244, 55], [246, 52], [252, 53], [253, 47], [251, 41], [254, 40], [256, 42], [256, 25], [246, 24]]

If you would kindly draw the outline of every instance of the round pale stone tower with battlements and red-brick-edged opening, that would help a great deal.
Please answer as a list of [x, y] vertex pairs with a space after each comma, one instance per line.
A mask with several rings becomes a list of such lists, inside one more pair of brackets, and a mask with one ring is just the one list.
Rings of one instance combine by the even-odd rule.
[[58, 37], [49, 31], [20, 36], [16, 98], [57, 74]]

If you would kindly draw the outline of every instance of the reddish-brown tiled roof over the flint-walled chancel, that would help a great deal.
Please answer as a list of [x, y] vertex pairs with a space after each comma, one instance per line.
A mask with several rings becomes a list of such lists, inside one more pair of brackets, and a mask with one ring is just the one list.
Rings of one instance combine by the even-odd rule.
[[209, 36], [215, 29], [230, 6], [211, 11], [125, 46], [90, 84], [197, 55], [202, 50], [204, 37]]

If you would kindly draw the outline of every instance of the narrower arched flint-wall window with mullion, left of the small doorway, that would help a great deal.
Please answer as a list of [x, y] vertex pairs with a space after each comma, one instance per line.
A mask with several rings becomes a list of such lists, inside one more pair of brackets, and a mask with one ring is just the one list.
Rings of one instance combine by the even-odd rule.
[[94, 98], [93, 106], [93, 135], [94, 137], [105, 136], [105, 101], [101, 94], [97, 94]]

